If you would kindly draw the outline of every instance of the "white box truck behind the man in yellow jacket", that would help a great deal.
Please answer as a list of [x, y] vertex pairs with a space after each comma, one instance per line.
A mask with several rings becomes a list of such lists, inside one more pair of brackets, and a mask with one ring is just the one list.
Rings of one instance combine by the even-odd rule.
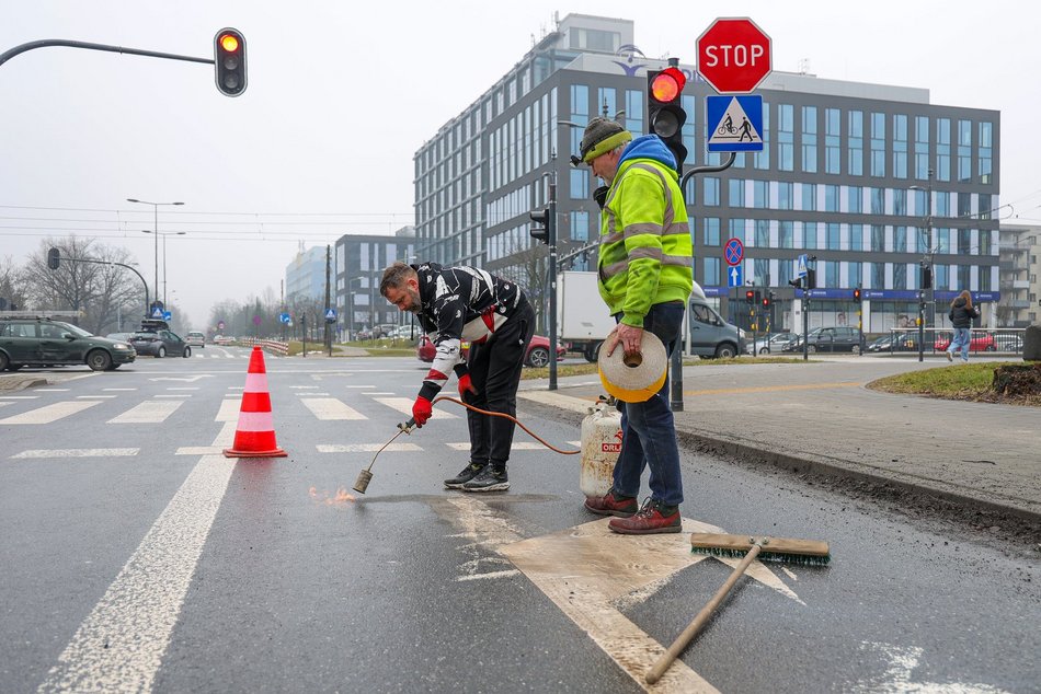
[[[686, 354], [728, 358], [744, 351], [744, 333], [724, 321], [705, 300], [700, 285], [687, 303], [688, 336]], [[607, 313], [596, 287], [596, 273], [568, 270], [557, 276], [557, 335], [572, 351], [582, 352], [587, 361], [596, 361], [600, 344], [615, 329], [615, 319]], [[689, 345], [689, 348], [688, 348]]]

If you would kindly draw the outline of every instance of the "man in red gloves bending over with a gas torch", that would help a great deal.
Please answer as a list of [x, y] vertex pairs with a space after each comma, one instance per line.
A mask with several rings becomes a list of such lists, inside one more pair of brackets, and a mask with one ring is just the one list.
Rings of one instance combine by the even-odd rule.
[[[412, 405], [416, 425], [431, 418], [432, 402], [453, 371], [462, 402], [516, 417], [520, 370], [535, 329], [535, 311], [520, 287], [476, 267], [399, 262], [384, 270], [379, 293], [399, 310], [415, 313], [436, 350]], [[464, 340], [470, 343], [466, 359]], [[467, 409], [467, 426], [470, 461], [445, 479], [445, 486], [464, 491], [508, 489], [513, 419]]]

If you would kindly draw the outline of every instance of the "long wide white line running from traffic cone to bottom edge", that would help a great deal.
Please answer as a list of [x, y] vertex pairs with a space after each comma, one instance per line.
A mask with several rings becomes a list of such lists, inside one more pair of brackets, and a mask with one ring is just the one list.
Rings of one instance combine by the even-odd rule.
[[37, 692], [152, 689], [233, 469], [199, 459]]

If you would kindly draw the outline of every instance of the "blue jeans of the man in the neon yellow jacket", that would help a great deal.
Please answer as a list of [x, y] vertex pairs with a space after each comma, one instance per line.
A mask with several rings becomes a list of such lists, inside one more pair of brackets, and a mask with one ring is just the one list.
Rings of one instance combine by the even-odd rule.
[[[683, 324], [684, 305], [655, 303], [643, 319], [643, 329], [654, 333], [670, 356]], [[621, 349], [621, 347], [616, 347]], [[640, 496], [640, 476], [650, 466], [651, 498], [666, 506], [683, 502], [679, 444], [668, 407], [668, 379], [644, 403], [618, 403], [621, 412], [621, 453], [615, 463], [614, 488], [622, 496]]]

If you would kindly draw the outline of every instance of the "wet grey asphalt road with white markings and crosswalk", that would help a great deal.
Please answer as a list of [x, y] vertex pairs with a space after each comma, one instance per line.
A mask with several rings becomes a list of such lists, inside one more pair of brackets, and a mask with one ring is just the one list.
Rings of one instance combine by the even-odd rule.
[[[226, 459], [248, 350], [201, 352], [0, 394], [0, 691], [637, 692], [730, 571], [686, 533], [608, 533], [577, 456], [523, 432], [510, 491], [444, 490], [454, 405], [353, 491], [412, 359], [268, 357], [288, 456]], [[520, 407], [575, 446], [573, 415]], [[833, 559], [754, 564], [653, 691], [1038, 691], [1036, 555], [689, 452], [684, 478], [686, 530]]]

